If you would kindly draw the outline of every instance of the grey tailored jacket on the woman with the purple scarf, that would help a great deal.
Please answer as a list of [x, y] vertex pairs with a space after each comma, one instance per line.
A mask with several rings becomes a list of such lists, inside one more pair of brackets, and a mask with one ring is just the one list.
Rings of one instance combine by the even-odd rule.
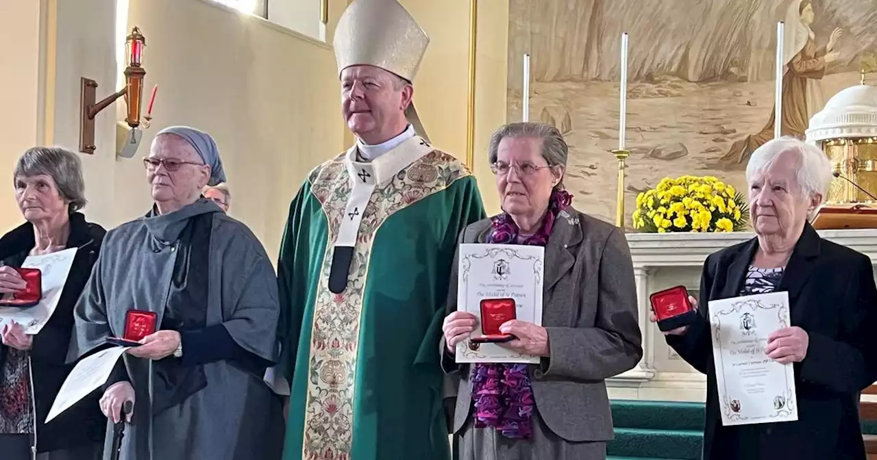
[[[490, 230], [489, 219], [473, 223], [460, 243], [485, 243]], [[456, 270], [454, 265], [447, 314], [457, 309]], [[604, 380], [630, 370], [643, 355], [623, 231], [572, 208], [560, 211], [545, 245], [543, 299], [551, 357], [528, 366], [534, 413], [553, 433], [553, 442], [609, 441], [613, 428]], [[457, 387], [453, 433], [479, 429], [467, 423], [473, 407], [470, 366], [454, 363], [444, 340], [439, 352], [452, 378], [447, 385]]]

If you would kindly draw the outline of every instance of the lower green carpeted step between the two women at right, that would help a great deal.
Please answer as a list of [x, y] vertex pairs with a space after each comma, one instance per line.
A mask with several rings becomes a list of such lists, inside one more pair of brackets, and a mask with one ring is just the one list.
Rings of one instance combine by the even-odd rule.
[[698, 460], [702, 438], [700, 430], [615, 428], [615, 439], [607, 445], [606, 453], [610, 456]]

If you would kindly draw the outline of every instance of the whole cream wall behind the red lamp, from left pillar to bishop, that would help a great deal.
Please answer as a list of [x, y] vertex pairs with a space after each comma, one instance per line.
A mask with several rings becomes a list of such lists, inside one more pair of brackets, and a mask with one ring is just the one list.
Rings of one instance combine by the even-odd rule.
[[[114, 91], [115, 0], [57, 2], [53, 143], [78, 146], [79, 79]], [[330, 11], [338, 18], [343, 5]], [[210, 132], [234, 195], [231, 214], [279, 249], [289, 202], [305, 174], [343, 149], [332, 49], [260, 18], [202, 0], [130, 0], [129, 26], [146, 37], [146, 91], [159, 85], [152, 126], [134, 159], [115, 155], [118, 107], [99, 114], [97, 151], [82, 154], [90, 219], [111, 228], [150, 206], [143, 164], [172, 124]], [[334, 27], [334, 23], [330, 24]], [[25, 142], [32, 144], [33, 141]]]

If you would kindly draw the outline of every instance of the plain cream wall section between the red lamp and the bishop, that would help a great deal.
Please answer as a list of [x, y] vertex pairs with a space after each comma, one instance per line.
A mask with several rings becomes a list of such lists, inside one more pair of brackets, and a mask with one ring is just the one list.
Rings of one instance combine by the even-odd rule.
[[[147, 88], [159, 85], [144, 143], [171, 124], [210, 132], [234, 195], [232, 216], [275, 257], [305, 174], [343, 150], [332, 48], [202, 1], [131, 0], [129, 8], [129, 28], [139, 25], [147, 40]], [[142, 164], [119, 161], [117, 171], [119, 198], [142, 212]]]

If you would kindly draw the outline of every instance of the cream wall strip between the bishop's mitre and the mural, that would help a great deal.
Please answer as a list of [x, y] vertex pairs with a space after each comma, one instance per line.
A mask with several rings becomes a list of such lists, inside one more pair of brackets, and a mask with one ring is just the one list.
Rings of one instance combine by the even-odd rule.
[[[469, 2], [401, 0], [430, 36], [414, 81], [414, 102], [432, 144], [461, 160], [467, 156]], [[488, 209], [499, 212], [499, 198], [487, 160], [490, 134], [505, 123], [509, 3], [478, 2], [475, 54], [475, 130], [473, 172]]]

